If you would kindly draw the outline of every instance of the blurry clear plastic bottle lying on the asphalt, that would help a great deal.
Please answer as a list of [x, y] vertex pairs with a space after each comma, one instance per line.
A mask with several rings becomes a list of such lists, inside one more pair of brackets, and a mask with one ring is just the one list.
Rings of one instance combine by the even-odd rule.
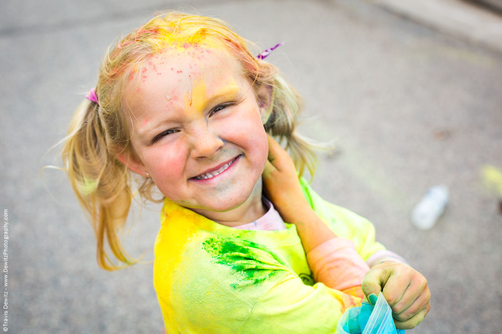
[[427, 190], [424, 197], [413, 208], [411, 219], [413, 225], [421, 230], [428, 230], [443, 214], [448, 204], [448, 187], [444, 184]]

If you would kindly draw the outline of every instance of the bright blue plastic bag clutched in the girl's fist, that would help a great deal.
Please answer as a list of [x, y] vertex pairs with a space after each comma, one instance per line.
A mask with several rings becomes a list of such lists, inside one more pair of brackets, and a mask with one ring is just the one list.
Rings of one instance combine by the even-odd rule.
[[336, 326], [336, 334], [404, 334], [396, 329], [391, 306], [380, 292], [373, 306], [363, 301], [361, 307], [349, 308]]

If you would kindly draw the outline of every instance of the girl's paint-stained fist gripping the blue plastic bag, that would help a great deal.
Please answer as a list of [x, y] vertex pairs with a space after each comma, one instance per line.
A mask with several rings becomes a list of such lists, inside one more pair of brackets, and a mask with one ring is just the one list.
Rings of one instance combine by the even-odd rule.
[[431, 308], [431, 291], [425, 277], [400, 262], [385, 261], [372, 267], [362, 281], [362, 291], [372, 305], [382, 291], [398, 329], [415, 327]]

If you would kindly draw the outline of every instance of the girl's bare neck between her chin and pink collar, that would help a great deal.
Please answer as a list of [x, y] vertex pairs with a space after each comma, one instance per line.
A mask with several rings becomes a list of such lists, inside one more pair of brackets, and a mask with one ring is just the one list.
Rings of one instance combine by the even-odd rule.
[[205, 209], [192, 209], [204, 217], [219, 224], [233, 227], [250, 223], [262, 217], [267, 209], [262, 202], [262, 178], [258, 180], [253, 191], [244, 203], [238, 207], [225, 212], [215, 212]]

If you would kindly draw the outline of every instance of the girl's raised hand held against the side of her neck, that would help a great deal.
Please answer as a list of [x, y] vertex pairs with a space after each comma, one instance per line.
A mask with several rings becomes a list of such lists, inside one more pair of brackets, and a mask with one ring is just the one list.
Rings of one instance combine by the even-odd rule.
[[291, 214], [308, 205], [303, 196], [298, 173], [293, 160], [269, 134], [269, 157], [263, 171], [264, 192], [277, 206], [286, 221], [293, 221]]

